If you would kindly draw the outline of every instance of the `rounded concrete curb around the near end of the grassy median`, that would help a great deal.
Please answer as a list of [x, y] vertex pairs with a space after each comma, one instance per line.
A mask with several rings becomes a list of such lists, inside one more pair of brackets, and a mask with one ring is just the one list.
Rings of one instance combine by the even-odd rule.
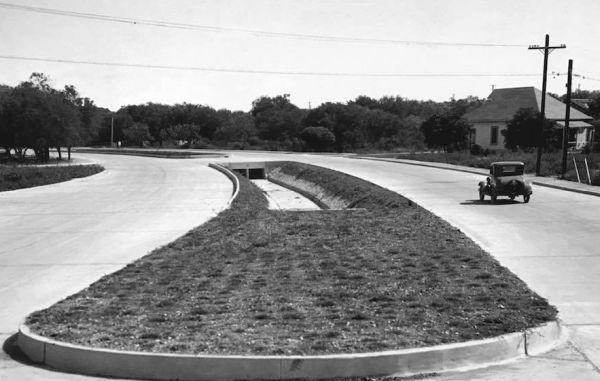
[[563, 340], [564, 329], [553, 321], [491, 339], [385, 352], [321, 356], [176, 355], [73, 345], [36, 335], [23, 325], [17, 345], [35, 363], [86, 375], [148, 380], [277, 380], [466, 370], [541, 353]]

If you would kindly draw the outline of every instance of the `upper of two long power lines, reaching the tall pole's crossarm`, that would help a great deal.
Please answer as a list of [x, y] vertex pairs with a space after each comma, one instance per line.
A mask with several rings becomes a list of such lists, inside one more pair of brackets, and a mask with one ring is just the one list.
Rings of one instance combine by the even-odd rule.
[[132, 24], [132, 25], [146, 25], [161, 28], [173, 28], [173, 29], [186, 29], [196, 30], [204, 32], [237, 32], [237, 33], [249, 33], [256, 36], [262, 37], [276, 37], [276, 38], [292, 38], [302, 40], [313, 40], [313, 41], [326, 41], [326, 42], [347, 42], [347, 43], [376, 43], [376, 44], [395, 44], [395, 45], [423, 45], [423, 46], [462, 46], [462, 47], [503, 47], [503, 48], [523, 48], [528, 45], [521, 44], [493, 44], [493, 43], [477, 43], [477, 42], [443, 42], [443, 41], [419, 41], [419, 40], [395, 40], [395, 39], [376, 39], [376, 38], [361, 38], [361, 37], [344, 37], [344, 36], [323, 36], [316, 34], [301, 34], [301, 33], [286, 33], [286, 32], [270, 32], [264, 30], [255, 29], [244, 29], [244, 28], [231, 28], [231, 27], [220, 27], [211, 25], [198, 25], [198, 24], [186, 24], [177, 23], [161, 20], [149, 20], [149, 19], [135, 19], [128, 17], [110, 16], [96, 13], [84, 13], [66, 11], [53, 8], [41, 8], [41, 7], [30, 7], [25, 5], [2, 3], [0, 2], [0, 8], [52, 14], [67, 17], [77, 17], [90, 20], [109, 21], [115, 23]]

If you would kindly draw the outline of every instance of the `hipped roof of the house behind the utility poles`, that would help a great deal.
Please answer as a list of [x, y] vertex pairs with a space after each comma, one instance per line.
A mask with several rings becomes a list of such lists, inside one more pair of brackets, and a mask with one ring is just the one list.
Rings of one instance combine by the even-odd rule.
[[[495, 89], [480, 107], [463, 117], [469, 122], [506, 122], [511, 120], [520, 108], [532, 108], [540, 112], [541, 103], [542, 92], [535, 87]], [[554, 121], [565, 119], [565, 104], [550, 94], [546, 94], [546, 118]], [[571, 121], [592, 119], [571, 107]]]

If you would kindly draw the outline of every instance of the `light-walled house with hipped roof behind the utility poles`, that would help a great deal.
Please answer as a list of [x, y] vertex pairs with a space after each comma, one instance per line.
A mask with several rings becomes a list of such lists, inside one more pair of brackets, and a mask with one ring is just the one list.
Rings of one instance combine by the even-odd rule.
[[[541, 111], [542, 92], [535, 87], [513, 87], [495, 89], [478, 108], [466, 113], [465, 118], [473, 125], [470, 132], [471, 144], [482, 148], [505, 149], [502, 131], [520, 108]], [[566, 105], [546, 94], [546, 119], [555, 122], [557, 128], [565, 125]], [[569, 145], [580, 149], [593, 141], [593, 126], [587, 122], [592, 117], [571, 107], [569, 118]]]

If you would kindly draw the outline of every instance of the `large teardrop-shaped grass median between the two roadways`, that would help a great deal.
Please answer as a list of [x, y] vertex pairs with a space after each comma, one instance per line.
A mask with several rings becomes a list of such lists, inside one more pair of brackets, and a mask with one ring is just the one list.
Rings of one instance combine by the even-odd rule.
[[555, 318], [460, 231], [402, 196], [319, 167], [281, 170], [327, 178], [323, 188], [366, 209], [273, 211], [240, 178], [231, 208], [27, 324], [112, 349], [300, 355], [460, 342]]

